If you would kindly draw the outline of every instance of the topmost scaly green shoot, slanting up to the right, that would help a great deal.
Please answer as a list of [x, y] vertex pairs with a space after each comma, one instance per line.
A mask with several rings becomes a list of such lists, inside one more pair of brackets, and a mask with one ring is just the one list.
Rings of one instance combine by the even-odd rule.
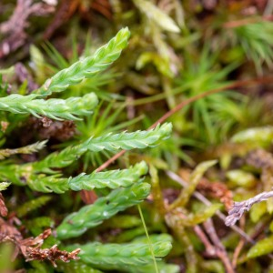
[[108, 44], [100, 47], [93, 56], [86, 57], [74, 65], [61, 70], [48, 79], [44, 86], [37, 90], [37, 94], [48, 96], [53, 92], [62, 92], [68, 86], [76, 85], [85, 78], [92, 77], [105, 70], [120, 56], [126, 48], [130, 32], [128, 28], [121, 29]]

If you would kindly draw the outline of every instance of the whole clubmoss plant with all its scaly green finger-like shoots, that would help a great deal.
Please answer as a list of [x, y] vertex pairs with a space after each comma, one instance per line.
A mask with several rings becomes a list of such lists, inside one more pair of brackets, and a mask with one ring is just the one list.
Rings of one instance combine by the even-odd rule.
[[[67, 99], [46, 98], [53, 94], [57, 96], [57, 93], [66, 91], [66, 88], [69, 86], [77, 85], [86, 78], [92, 78], [105, 70], [120, 56], [121, 51], [126, 48], [129, 35], [127, 28], [121, 29], [106, 45], [96, 50], [93, 56], [87, 56], [72, 66], [57, 72], [56, 75], [46, 80], [43, 86], [30, 95], [12, 94], [1, 97], [0, 109], [14, 114], [33, 115], [38, 118], [46, 116], [56, 120], [76, 120], [83, 116], [92, 115], [98, 102], [95, 93], [86, 94], [82, 97], [68, 97]], [[144, 161], [136, 163], [134, 166], [128, 166], [125, 169], [106, 170], [103, 172], [94, 170], [91, 174], [81, 173], [74, 177], [66, 177], [66, 172], [63, 169], [75, 163], [79, 157], [86, 153], [99, 153], [105, 150], [116, 153], [121, 149], [131, 150], [155, 147], [170, 136], [171, 130], [171, 124], [166, 123], [148, 131], [130, 133], [124, 131], [115, 134], [109, 132], [104, 134], [104, 132], [101, 132], [100, 136], [91, 136], [86, 141], [77, 144], [74, 142], [75, 145], [73, 146], [67, 146], [63, 150], [53, 152], [35, 162], [23, 164], [7, 160], [5, 157], [18, 153], [29, 154], [41, 150], [45, 147], [46, 141], [16, 149], [0, 150], [1, 159], [5, 159], [0, 164], [0, 177], [2, 180], [11, 183], [11, 187], [30, 187], [31, 190], [37, 192], [54, 192], [56, 194], [63, 194], [68, 190], [104, 189], [104, 191], [97, 192], [98, 198], [95, 203], [80, 209], [77, 208], [76, 211], [68, 214], [64, 219], [61, 220], [60, 218], [59, 224], [56, 223], [54, 243], [66, 250], [82, 249], [80, 261], [73, 261], [71, 268], [69, 265], [64, 266], [62, 262], [58, 262], [59, 268], [63, 268], [65, 272], [70, 272], [75, 268], [79, 269], [86, 265], [86, 268], [94, 266], [102, 270], [116, 269], [126, 272], [128, 270], [132, 272], [147, 272], [147, 268], [153, 267], [155, 257], [162, 258], [167, 255], [171, 248], [171, 238], [168, 238], [167, 241], [160, 237], [157, 240], [153, 240], [151, 245], [153, 255], [150, 251], [151, 248], [145, 242], [112, 245], [90, 240], [87, 241], [86, 245], [77, 247], [74, 245], [68, 247], [63, 245], [62, 240], [69, 238], [79, 240], [79, 237], [86, 233], [88, 229], [100, 225], [104, 220], [115, 216], [118, 212], [124, 211], [128, 207], [141, 203], [150, 193], [150, 185], [143, 181], [143, 176], [147, 174], [148, 170], [147, 163]], [[2, 189], [5, 189], [7, 186], [8, 184], [3, 184]], [[51, 202], [51, 197], [46, 195], [32, 199], [16, 210], [17, 217], [23, 217], [22, 220], [24, 221], [26, 215], [33, 214], [35, 209], [42, 207], [47, 202]], [[36, 225], [37, 222], [35, 221], [37, 219], [40, 219], [40, 225]], [[36, 233], [39, 230], [43, 231], [46, 225], [52, 227], [52, 224], [53, 221], [50, 217], [36, 217], [25, 221], [25, 226], [35, 236], [37, 236]], [[35, 225], [38, 229], [34, 229], [31, 227], [32, 225]], [[50, 249], [55, 248], [56, 246]], [[76, 252], [71, 252], [70, 258], [73, 253]], [[96, 253], [96, 257], [94, 253]], [[28, 260], [32, 259], [39, 258], [28, 257]], [[48, 259], [50, 259], [53, 265], [56, 265], [54, 258]], [[39, 268], [39, 270], [42, 270], [41, 267], [43, 268], [43, 266], [37, 266], [35, 262], [33, 262], [33, 265], [34, 268]], [[145, 267], [142, 269], [139, 266]], [[48, 269], [46, 267], [43, 268], [45, 271]], [[93, 270], [91, 267], [88, 272], [100, 272], [96, 269]], [[170, 267], [169, 272], [177, 272], [176, 266], [167, 266], [164, 262], [160, 262], [158, 267]], [[133, 270], [132, 268], [135, 269]]]

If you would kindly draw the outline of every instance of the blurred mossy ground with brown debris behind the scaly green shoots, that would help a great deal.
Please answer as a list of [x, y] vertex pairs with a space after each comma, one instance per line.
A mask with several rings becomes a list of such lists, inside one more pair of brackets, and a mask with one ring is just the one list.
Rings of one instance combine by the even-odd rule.
[[[233, 199], [273, 187], [273, 1], [2, 0], [0, 17], [0, 96], [30, 94], [57, 71], [92, 55], [120, 28], [128, 26], [131, 32], [128, 47], [113, 66], [58, 96], [95, 92], [101, 102], [93, 116], [45, 127], [35, 117], [0, 113], [1, 148], [48, 139], [39, 154], [13, 160], [32, 162], [102, 133], [145, 130], [187, 99], [203, 96], [168, 118], [174, 126], [171, 138], [145, 153], [126, 153], [116, 167], [143, 159], [149, 165], [146, 180], [152, 194], [142, 204], [147, 230], [174, 238], [161, 272], [273, 272], [272, 200], [254, 205], [238, 230], [225, 227], [215, 215], [218, 209], [227, 215]], [[207, 95], [211, 90], [218, 92]], [[66, 176], [90, 173], [111, 156], [86, 153], [65, 170]], [[193, 169], [212, 159], [217, 164], [196, 181]], [[184, 196], [181, 179], [193, 185]], [[207, 208], [192, 196], [196, 189], [212, 202]], [[38, 203], [25, 205], [37, 197], [42, 198]], [[5, 191], [5, 200], [22, 221], [22, 230], [33, 236], [55, 227], [83, 202], [75, 193], [45, 198], [16, 187]], [[108, 243], [144, 235], [135, 208], [88, 233]], [[258, 244], [253, 247], [251, 240]], [[5, 248], [3, 257], [9, 251]], [[5, 258], [1, 263], [5, 267]], [[22, 268], [22, 263], [13, 267]], [[168, 264], [174, 267], [164, 269]], [[93, 272], [67, 265], [59, 270]], [[25, 267], [29, 272], [54, 270], [35, 261]]]

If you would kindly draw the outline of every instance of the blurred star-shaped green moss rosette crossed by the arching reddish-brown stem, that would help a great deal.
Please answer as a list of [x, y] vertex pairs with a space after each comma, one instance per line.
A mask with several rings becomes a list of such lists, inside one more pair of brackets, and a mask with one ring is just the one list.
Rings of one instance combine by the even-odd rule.
[[[230, 85], [227, 76], [238, 64], [219, 67], [216, 65], [218, 55], [218, 52], [210, 52], [208, 45], [204, 45], [197, 59], [192, 58], [189, 53], [185, 69], [177, 78], [177, 92], [189, 98]], [[242, 112], [243, 98], [244, 96], [230, 92], [228, 88], [225, 92], [194, 102], [189, 107], [190, 111], [187, 110], [189, 116], [192, 116], [194, 138], [211, 145], [226, 137], [235, 124], [246, 119]]]

